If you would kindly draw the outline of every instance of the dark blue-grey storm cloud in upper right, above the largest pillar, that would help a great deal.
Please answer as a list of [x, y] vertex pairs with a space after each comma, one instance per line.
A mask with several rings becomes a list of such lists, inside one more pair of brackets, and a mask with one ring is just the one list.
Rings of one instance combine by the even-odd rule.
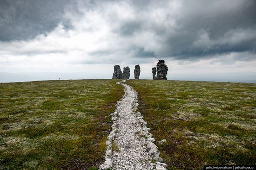
[[[166, 43], [172, 47], [166, 51], [167, 55], [186, 58], [229, 52], [256, 53], [256, 36], [250, 36], [251, 32], [256, 33], [256, 1], [197, 2], [188, 1], [181, 10], [183, 14], [177, 16], [178, 29], [166, 39]], [[235, 3], [235, 6], [231, 3]], [[201, 30], [209, 39], [205, 44], [195, 46], [193, 43], [200, 40]], [[237, 32], [243, 37], [237, 37]], [[223, 40], [228, 42], [223, 43]]]

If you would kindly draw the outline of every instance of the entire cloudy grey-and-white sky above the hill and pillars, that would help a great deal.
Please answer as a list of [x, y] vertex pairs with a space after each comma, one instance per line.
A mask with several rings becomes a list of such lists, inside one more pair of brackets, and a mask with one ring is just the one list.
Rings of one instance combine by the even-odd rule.
[[164, 59], [168, 80], [256, 83], [255, 0], [0, 0], [0, 82], [111, 78]]

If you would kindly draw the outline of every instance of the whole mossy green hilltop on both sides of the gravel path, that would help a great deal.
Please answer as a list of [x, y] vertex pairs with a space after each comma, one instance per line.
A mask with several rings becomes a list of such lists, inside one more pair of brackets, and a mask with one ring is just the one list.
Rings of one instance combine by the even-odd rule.
[[[96, 170], [124, 93], [118, 81], [1, 83], [0, 169]], [[256, 164], [256, 84], [127, 83], [170, 169]]]

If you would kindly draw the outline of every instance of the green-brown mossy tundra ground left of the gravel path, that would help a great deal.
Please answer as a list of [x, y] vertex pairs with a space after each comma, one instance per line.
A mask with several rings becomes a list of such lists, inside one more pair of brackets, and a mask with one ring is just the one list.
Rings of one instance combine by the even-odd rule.
[[118, 81], [1, 83], [0, 169], [98, 169]]

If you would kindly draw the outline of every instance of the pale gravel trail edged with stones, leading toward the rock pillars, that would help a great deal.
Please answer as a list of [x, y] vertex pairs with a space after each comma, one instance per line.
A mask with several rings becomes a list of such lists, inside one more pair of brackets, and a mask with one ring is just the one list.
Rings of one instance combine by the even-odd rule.
[[137, 92], [123, 82], [126, 80], [117, 82], [125, 87], [125, 94], [112, 113], [114, 124], [106, 142], [106, 161], [100, 170], [166, 170], [147, 122], [137, 111]]

